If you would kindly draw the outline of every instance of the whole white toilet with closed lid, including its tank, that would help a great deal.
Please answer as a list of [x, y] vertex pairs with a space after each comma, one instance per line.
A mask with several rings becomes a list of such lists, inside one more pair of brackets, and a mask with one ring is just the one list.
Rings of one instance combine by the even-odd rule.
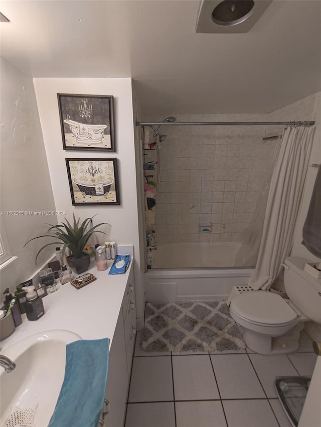
[[268, 291], [245, 292], [232, 299], [230, 314], [246, 345], [260, 354], [296, 351], [304, 322], [321, 323], [321, 279], [304, 270], [304, 258], [284, 262], [284, 286], [289, 299]]

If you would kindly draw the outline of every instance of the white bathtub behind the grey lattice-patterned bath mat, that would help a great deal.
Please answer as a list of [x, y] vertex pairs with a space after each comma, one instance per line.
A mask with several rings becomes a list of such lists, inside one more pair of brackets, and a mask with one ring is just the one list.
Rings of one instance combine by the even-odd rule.
[[[233, 286], [247, 284], [254, 271], [234, 266], [239, 246], [239, 243], [157, 246], [153, 255], [158, 268], [147, 270], [144, 277], [146, 301], [225, 300]], [[159, 268], [167, 262], [167, 268]]]

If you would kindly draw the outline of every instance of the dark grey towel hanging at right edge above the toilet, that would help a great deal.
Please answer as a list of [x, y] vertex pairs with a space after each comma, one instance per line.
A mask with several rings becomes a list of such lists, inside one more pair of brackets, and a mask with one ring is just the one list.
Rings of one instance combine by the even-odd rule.
[[316, 175], [302, 236], [306, 249], [321, 258], [321, 166]]

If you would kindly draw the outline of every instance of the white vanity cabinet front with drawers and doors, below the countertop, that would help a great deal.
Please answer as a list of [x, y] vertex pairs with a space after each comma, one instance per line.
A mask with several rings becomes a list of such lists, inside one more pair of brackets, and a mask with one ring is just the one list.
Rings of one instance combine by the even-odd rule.
[[109, 407], [103, 409], [108, 413], [102, 417], [103, 424], [101, 424], [105, 427], [122, 427], [124, 425], [136, 333], [135, 308], [134, 278], [131, 270], [109, 351], [105, 394], [105, 398], [109, 401]]

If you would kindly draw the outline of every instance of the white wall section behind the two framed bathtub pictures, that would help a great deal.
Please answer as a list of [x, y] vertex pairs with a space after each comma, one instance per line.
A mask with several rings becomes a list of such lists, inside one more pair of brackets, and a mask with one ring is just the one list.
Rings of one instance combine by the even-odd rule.
[[[72, 218], [73, 213], [81, 219], [97, 213], [94, 224], [112, 225], [108, 237], [99, 236], [102, 243], [108, 239], [134, 246], [137, 317], [142, 317], [131, 79], [34, 79], [34, 85], [56, 209], [65, 211], [67, 218]], [[63, 150], [57, 93], [112, 95], [116, 152]], [[119, 206], [72, 205], [65, 158], [94, 157], [118, 159]]]

